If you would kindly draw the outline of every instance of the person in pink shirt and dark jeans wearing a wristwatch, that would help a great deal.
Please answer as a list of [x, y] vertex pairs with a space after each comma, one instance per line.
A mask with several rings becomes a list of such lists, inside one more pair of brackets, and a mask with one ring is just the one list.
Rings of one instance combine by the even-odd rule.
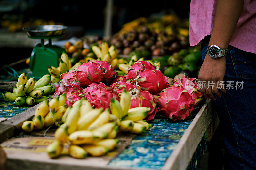
[[226, 169], [256, 169], [256, 0], [191, 0], [190, 45], [202, 42], [200, 91], [213, 99]]

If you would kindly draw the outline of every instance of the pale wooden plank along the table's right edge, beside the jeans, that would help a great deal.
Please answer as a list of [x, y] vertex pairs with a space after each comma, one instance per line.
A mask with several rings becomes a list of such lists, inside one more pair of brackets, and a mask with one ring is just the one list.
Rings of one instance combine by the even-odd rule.
[[185, 170], [212, 121], [212, 101], [207, 100], [166, 160], [163, 170]]

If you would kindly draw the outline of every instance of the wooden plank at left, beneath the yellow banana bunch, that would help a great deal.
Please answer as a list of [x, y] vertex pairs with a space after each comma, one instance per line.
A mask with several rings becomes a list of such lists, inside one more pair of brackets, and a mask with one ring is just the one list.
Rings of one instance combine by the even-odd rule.
[[32, 119], [39, 104], [28, 108], [7, 121], [0, 123], [0, 143], [4, 142], [7, 138], [13, 137], [15, 134], [19, 134], [23, 122]]

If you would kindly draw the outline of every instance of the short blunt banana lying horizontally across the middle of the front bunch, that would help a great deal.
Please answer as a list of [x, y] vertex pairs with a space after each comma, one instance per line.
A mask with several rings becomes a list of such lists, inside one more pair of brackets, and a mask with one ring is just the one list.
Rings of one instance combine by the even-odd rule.
[[91, 144], [93, 143], [95, 136], [92, 131], [79, 130], [71, 133], [68, 139], [72, 144]]

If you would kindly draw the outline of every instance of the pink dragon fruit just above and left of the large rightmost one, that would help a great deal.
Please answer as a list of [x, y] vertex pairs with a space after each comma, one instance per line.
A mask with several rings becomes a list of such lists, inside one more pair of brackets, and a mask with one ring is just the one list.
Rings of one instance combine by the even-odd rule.
[[167, 79], [160, 70], [144, 70], [136, 77], [135, 82], [142, 90], [158, 95], [167, 87]]

